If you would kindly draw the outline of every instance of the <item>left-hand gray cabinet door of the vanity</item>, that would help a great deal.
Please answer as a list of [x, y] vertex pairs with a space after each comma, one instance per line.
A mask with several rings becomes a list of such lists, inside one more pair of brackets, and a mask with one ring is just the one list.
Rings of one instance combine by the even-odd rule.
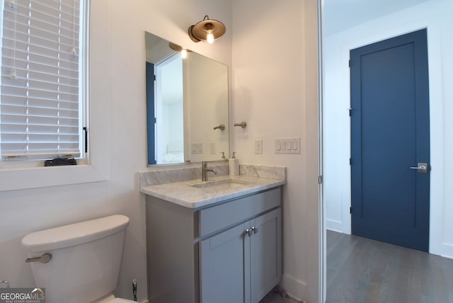
[[200, 302], [244, 299], [244, 230], [248, 223], [200, 241]]

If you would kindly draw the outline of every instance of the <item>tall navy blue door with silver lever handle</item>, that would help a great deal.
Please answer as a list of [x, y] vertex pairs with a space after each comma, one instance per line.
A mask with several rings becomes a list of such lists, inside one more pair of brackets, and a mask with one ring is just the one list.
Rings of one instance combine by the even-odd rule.
[[352, 234], [428, 251], [426, 30], [350, 51]]

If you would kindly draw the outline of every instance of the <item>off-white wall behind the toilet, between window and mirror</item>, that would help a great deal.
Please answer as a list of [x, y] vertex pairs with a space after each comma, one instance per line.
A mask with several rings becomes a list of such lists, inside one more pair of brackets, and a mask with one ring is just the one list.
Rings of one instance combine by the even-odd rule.
[[[0, 279], [11, 287], [33, 287], [21, 247], [25, 234], [110, 214], [130, 217], [117, 295], [147, 297], [144, 196], [137, 171], [147, 167], [144, 30], [231, 64], [231, 4], [223, 0], [91, 1], [91, 106], [94, 125], [105, 130], [91, 147], [109, 144], [108, 181], [0, 193]], [[214, 45], [195, 45], [189, 25], [205, 14], [227, 32]], [[97, 124], [96, 124], [97, 123]], [[96, 128], [96, 127], [95, 127]], [[96, 132], [96, 130], [93, 130]], [[3, 182], [3, 180], [2, 180]]]

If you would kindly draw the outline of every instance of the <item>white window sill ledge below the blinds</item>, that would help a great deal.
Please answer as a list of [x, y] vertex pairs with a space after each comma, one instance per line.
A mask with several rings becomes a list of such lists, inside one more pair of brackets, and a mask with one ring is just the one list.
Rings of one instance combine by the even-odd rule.
[[0, 192], [108, 180], [91, 165], [47, 166], [0, 170]]

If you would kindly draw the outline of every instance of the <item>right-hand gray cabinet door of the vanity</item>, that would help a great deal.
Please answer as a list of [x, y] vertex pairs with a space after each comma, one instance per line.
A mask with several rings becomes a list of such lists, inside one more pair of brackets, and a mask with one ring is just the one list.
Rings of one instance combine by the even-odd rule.
[[281, 209], [251, 221], [251, 303], [258, 303], [282, 279]]

